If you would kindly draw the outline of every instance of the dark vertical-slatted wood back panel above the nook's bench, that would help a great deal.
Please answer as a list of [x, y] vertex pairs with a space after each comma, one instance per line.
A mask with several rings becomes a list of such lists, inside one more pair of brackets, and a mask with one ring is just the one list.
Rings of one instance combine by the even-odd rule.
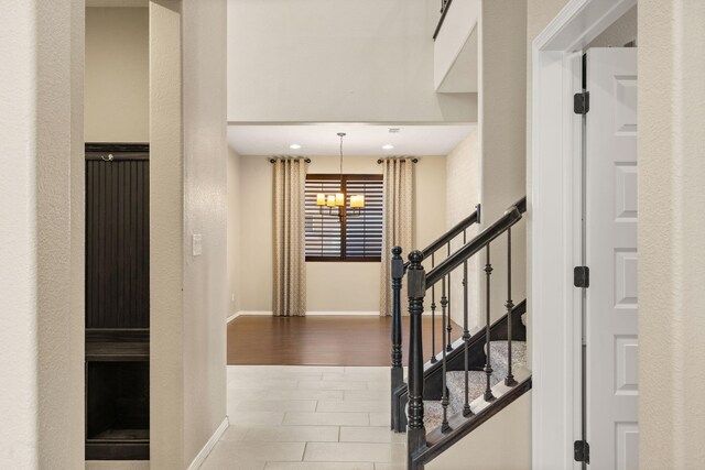
[[86, 159], [86, 328], [149, 328], [149, 161]]

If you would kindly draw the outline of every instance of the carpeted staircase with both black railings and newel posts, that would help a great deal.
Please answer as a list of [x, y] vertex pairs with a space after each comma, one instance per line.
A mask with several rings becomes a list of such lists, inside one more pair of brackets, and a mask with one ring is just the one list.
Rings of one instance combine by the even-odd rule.
[[[477, 211], [460, 221], [423, 251], [412, 251], [404, 263], [399, 247], [392, 250], [392, 387], [391, 428], [408, 433], [408, 468], [423, 469], [445, 449], [480, 426], [531, 389], [527, 369], [527, 332], [523, 323], [525, 300], [514, 305], [511, 297], [511, 228], [525, 212], [525, 198], [467, 241], [467, 229], [478, 221]], [[463, 245], [452, 253], [452, 242], [463, 237]], [[491, 324], [491, 243], [507, 237], [506, 314]], [[437, 265], [436, 254], [445, 248], [446, 258]], [[485, 326], [468, 330], [468, 260], [485, 252]], [[430, 271], [426, 273], [424, 260]], [[498, 270], [499, 271], [499, 270]], [[409, 284], [409, 374], [403, 381], [401, 365], [401, 283]], [[456, 277], [459, 276], [459, 277]], [[451, 342], [452, 280], [462, 280], [463, 337]], [[424, 300], [430, 298], [431, 316], [441, 315], [443, 340], [424, 363], [422, 321]], [[436, 304], [438, 299], [438, 304]], [[440, 308], [438, 308], [440, 307]], [[496, 310], [495, 310], [496, 311]], [[434, 336], [435, 338], [435, 336]]]

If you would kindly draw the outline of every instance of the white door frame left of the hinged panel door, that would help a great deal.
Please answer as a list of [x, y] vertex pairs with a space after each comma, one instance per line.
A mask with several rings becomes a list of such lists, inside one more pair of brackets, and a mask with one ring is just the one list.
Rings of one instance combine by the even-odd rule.
[[[637, 0], [571, 0], [532, 43], [531, 334], [532, 467], [579, 469], [579, 52]], [[576, 54], [578, 53], [578, 54]]]

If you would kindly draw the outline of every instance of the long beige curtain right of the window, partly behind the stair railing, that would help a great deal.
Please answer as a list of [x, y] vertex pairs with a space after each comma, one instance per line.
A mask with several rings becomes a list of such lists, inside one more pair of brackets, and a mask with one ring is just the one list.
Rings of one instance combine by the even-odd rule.
[[[406, 260], [412, 247], [413, 228], [413, 184], [414, 164], [411, 159], [386, 159], [382, 161], [384, 174], [384, 221], [382, 236], [382, 265], [379, 313], [392, 315], [391, 250], [402, 248]], [[406, 283], [402, 283], [402, 313], [406, 299]]]

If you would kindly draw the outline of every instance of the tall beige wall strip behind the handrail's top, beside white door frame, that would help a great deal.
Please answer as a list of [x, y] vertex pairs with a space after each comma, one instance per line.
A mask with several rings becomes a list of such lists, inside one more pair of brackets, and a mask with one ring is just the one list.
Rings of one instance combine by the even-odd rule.
[[[479, 22], [479, 147], [481, 153], [479, 229], [499, 219], [527, 195], [527, 3], [514, 0], [482, 2]], [[490, 247], [491, 317], [507, 313], [507, 238]], [[512, 299], [525, 298], [525, 222], [512, 228]], [[481, 263], [486, 255], [482, 253]], [[485, 305], [485, 282], [480, 288]]]

